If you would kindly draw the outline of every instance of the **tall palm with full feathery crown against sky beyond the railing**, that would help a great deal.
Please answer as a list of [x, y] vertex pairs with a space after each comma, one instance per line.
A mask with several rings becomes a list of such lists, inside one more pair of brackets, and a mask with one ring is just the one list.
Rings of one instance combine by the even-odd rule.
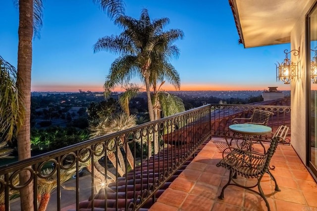
[[[163, 31], [163, 27], [168, 23], [168, 18], [151, 22], [147, 9], [142, 10], [139, 20], [119, 16], [115, 19], [115, 24], [122, 26], [124, 31], [118, 36], [100, 38], [94, 46], [95, 53], [105, 50], [120, 54], [111, 64], [104, 85], [105, 94], [110, 94], [114, 87], [130, 81], [133, 76], [138, 76], [146, 87], [151, 121], [156, 120], [151, 99], [151, 71], [165, 71], [172, 67], [168, 59], [179, 54], [177, 47], [172, 43], [184, 36], [179, 29]], [[157, 70], [159, 66], [161, 68]], [[175, 76], [177, 78], [178, 75]], [[167, 80], [175, 85], [175, 88], [179, 88], [178, 82], [173, 81], [174, 78], [168, 77]]]

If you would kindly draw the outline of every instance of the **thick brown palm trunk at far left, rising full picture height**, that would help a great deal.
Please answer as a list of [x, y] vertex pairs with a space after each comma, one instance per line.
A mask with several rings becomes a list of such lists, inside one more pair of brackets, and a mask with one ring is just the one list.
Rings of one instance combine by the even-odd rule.
[[[23, 125], [18, 128], [18, 158], [24, 160], [31, 157], [30, 113], [31, 113], [31, 68], [32, 68], [32, 38], [33, 38], [33, 0], [19, 0], [19, 44], [17, 78], [22, 90], [20, 106], [25, 106]], [[29, 171], [19, 175], [20, 185], [30, 177]], [[21, 210], [33, 211], [33, 182], [20, 189]]]

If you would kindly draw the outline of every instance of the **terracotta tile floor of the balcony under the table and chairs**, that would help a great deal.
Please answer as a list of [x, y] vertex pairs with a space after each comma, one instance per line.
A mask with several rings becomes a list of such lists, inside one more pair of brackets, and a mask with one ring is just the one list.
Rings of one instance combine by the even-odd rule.
[[[251, 191], [228, 186], [224, 199], [218, 199], [228, 181], [228, 170], [216, 167], [225, 148], [224, 140], [212, 138], [193, 162], [159, 197], [150, 211], [265, 211], [264, 200]], [[279, 145], [271, 159], [272, 174], [281, 192], [266, 174], [261, 182], [272, 211], [317, 211], [317, 183], [291, 146]], [[239, 182], [246, 181], [240, 177]]]

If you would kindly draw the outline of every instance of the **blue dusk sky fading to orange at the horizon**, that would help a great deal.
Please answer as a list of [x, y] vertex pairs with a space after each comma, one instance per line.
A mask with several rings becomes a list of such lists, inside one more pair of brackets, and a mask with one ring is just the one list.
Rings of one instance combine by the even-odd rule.
[[[118, 35], [113, 24], [93, 0], [43, 0], [40, 38], [33, 40], [32, 92], [103, 91], [111, 63], [118, 54], [94, 53], [93, 45], [104, 36]], [[141, 10], [151, 20], [167, 17], [164, 30], [180, 29], [184, 39], [171, 60], [180, 75], [183, 91], [264, 90], [290, 85], [276, 82], [275, 63], [283, 61], [290, 44], [245, 49], [228, 0], [124, 0], [125, 14], [139, 19]], [[1, 0], [0, 55], [17, 66], [18, 9], [13, 0]], [[135, 78], [131, 81], [140, 86]], [[165, 83], [165, 91], [175, 90]], [[120, 91], [120, 87], [114, 91]]]

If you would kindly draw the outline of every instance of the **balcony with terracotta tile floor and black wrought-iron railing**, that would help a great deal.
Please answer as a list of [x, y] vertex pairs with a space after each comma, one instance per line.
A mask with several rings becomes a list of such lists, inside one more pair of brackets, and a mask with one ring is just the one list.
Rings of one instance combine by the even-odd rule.
[[[260, 197], [237, 188], [226, 189], [224, 200], [217, 199], [228, 174], [215, 166], [225, 148], [224, 137], [233, 135], [228, 130], [233, 118], [248, 117], [259, 108], [274, 113], [269, 121], [273, 131], [280, 125], [290, 126], [285, 99], [263, 103], [202, 106], [2, 166], [0, 210], [20, 210], [17, 190], [31, 182], [33, 198], [38, 199], [35, 210], [45, 194], [50, 196], [47, 210], [54, 211], [266, 210]], [[271, 136], [262, 138], [269, 143]], [[159, 152], [154, 154], [156, 144]], [[279, 144], [271, 163], [282, 189], [274, 192], [270, 178], [263, 180], [272, 210], [317, 207], [317, 184], [290, 145]], [[19, 173], [26, 172], [29, 181], [17, 185]], [[45, 193], [40, 187], [47, 181], [53, 188]]]

